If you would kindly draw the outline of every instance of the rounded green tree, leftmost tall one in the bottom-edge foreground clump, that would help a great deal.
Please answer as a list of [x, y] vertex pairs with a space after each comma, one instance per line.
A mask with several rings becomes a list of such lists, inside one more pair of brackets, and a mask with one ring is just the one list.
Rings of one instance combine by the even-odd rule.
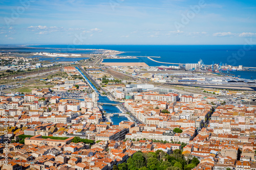
[[139, 168], [145, 166], [145, 157], [141, 151], [136, 152], [133, 157], [127, 160], [127, 165], [130, 170], [138, 170]]

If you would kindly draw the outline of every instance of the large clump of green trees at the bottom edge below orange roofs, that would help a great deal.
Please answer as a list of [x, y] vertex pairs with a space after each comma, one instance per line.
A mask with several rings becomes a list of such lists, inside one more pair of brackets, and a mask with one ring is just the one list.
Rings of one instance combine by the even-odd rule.
[[127, 163], [114, 165], [113, 170], [190, 170], [199, 163], [195, 157], [185, 159], [181, 150], [175, 150], [171, 155], [161, 150], [149, 153], [139, 151]]

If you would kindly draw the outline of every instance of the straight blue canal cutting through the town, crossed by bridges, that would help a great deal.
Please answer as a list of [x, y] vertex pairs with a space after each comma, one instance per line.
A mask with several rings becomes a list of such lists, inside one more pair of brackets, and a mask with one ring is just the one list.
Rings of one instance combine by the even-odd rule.
[[[76, 69], [80, 72], [81, 75], [84, 76], [84, 78], [87, 80], [87, 82], [92, 86], [93, 90], [97, 91], [99, 97], [99, 101], [100, 103], [113, 103], [113, 104], [118, 104], [119, 102], [116, 101], [111, 101], [107, 96], [102, 96], [98, 90], [96, 89], [96, 87], [92, 84], [92, 82], [82, 73], [82, 71], [76, 67]], [[121, 111], [113, 105], [102, 105], [102, 108], [104, 109], [104, 111], [106, 111], [106, 113], [121, 113]], [[113, 125], [119, 125], [120, 122], [122, 121], [128, 121], [127, 117], [125, 116], [118, 116], [118, 115], [113, 115], [110, 117]]]

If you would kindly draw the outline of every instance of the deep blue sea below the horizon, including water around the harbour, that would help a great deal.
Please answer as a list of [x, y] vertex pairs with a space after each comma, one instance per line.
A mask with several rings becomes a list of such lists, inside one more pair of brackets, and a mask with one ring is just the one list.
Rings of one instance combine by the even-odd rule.
[[[40, 48], [40, 52], [90, 53], [82, 49], [105, 49], [123, 52], [120, 56], [140, 56], [138, 59], [104, 59], [103, 62], [145, 62], [148, 66], [170, 66], [160, 62], [198, 63], [202, 59], [206, 65], [228, 64], [256, 67], [256, 45], [29, 45]], [[36, 48], [30, 48], [35, 52]], [[26, 50], [22, 50], [26, 51]], [[230, 71], [230, 74], [244, 79], [256, 79], [256, 71]]]

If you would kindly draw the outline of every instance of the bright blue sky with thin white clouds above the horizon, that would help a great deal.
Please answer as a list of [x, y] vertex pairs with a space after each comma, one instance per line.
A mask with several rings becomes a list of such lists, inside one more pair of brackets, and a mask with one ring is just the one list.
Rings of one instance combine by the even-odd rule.
[[0, 44], [256, 44], [256, 1], [1, 0]]

